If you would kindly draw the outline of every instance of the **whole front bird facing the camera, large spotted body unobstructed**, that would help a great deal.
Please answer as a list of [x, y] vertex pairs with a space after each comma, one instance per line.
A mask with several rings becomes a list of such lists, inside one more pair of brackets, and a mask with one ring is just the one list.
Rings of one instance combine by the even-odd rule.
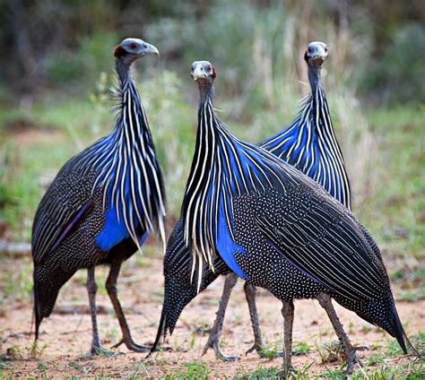
[[216, 116], [208, 61], [195, 61], [200, 102], [194, 160], [181, 207], [183, 236], [192, 251], [197, 290], [203, 267], [217, 255], [232, 272], [282, 302], [284, 358], [291, 362], [294, 299], [317, 298], [347, 357], [345, 374], [360, 358], [332, 300], [383, 328], [407, 353], [379, 248], [360, 221], [316, 181], [254, 144]]

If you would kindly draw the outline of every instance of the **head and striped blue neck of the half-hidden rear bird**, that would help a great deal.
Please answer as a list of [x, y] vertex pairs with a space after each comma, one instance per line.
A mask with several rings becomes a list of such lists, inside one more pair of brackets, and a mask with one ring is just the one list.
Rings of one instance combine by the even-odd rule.
[[327, 47], [323, 42], [308, 45], [304, 59], [308, 64], [311, 93], [291, 125], [258, 145], [314, 179], [328, 194], [351, 209], [350, 182], [321, 81], [326, 56]]

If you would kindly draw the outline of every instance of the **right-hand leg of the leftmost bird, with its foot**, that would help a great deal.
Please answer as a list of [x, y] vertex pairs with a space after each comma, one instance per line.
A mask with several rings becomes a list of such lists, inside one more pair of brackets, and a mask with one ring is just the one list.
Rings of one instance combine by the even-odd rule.
[[124, 315], [123, 309], [118, 300], [117, 278], [118, 278], [119, 271], [121, 269], [121, 263], [122, 263], [121, 258], [117, 258], [111, 263], [108, 279], [106, 281], [106, 289], [108, 290], [109, 298], [112, 302], [112, 306], [114, 307], [115, 314], [117, 315], [117, 319], [121, 327], [121, 331], [123, 332], [123, 338], [121, 339], [121, 341], [118, 341], [117, 344], [112, 346], [112, 348], [115, 349], [122, 343], [125, 343], [126, 348], [128, 350], [133, 350], [135, 352], [147, 352], [150, 349], [149, 346], [142, 346], [142, 345], [134, 343], [130, 333], [130, 329], [128, 328], [126, 315]]

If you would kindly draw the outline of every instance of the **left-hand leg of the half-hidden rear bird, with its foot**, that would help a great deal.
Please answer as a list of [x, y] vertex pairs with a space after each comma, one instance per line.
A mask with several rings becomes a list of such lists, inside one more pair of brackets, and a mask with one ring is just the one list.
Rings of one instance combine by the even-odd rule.
[[221, 329], [222, 329], [223, 321], [224, 321], [224, 314], [226, 313], [226, 307], [227, 307], [227, 304], [229, 303], [231, 290], [234, 288], [237, 281], [238, 281], [238, 276], [235, 273], [229, 273], [226, 276], [226, 281], [224, 281], [223, 294], [221, 295], [221, 300], [220, 300], [220, 307], [219, 307], [219, 310], [217, 311], [217, 317], [215, 318], [212, 329], [207, 331], [210, 333], [210, 336], [208, 337], [208, 341], [204, 345], [204, 350], [202, 352], [203, 355], [205, 355], [206, 351], [211, 348], [211, 349], [214, 349], [215, 356], [217, 358], [221, 358], [221, 360], [223, 361], [234, 361], [239, 359], [238, 356], [224, 355], [221, 352], [221, 348], [220, 348], [220, 335], [221, 335]]

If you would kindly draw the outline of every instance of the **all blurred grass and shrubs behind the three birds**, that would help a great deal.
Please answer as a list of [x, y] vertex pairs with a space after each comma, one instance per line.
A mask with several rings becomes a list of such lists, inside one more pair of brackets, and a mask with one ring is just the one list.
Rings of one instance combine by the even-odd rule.
[[30, 241], [35, 209], [57, 169], [111, 130], [112, 51], [121, 39], [140, 37], [160, 50], [159, 59], [137, 63], [134, 77], [165, 174], [169, 230], [195, 142], [191, 62], [212, 61], [221, 118], [258, 142], [296, 117], [309, 90], [304, 49], [323, 40], [330, 50], [325, 89], [353, 210], [403, 263], [397, 271], [418, 267], [424, 13], [421, 0], [0, 0], [0, 238]]

